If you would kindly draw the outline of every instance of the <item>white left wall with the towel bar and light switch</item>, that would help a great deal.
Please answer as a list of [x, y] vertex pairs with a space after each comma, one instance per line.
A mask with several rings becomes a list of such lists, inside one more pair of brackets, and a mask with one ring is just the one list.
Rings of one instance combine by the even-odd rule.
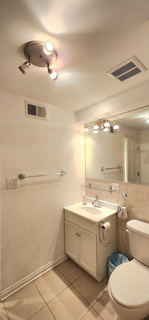
[[[25, 100], [0, 91], [2, 291], [64, 253], [63, 206], [82, 199], [85, 176], [83, 126], [73, 112], [41, 102], [48, 121], [33, 119]], [[26, 178], [6, 190], [5, 179], [21, 172], [61, 170], [67, 174]]]

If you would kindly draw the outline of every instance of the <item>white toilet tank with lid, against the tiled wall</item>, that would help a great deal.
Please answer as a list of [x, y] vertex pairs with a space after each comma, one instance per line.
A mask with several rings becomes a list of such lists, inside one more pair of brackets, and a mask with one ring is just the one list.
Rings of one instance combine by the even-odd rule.
[[129, 233], [131, 255], [149, 267], [149, 223], [130, 220], [126, 231]]

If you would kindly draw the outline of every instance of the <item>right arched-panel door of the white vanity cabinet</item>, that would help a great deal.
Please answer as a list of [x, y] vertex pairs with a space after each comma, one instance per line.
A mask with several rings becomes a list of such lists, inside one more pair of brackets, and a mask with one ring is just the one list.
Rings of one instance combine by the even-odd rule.
[[79, 238], [79, 263], [97, 277], [97, 242], [96, 236], [78, 227]]

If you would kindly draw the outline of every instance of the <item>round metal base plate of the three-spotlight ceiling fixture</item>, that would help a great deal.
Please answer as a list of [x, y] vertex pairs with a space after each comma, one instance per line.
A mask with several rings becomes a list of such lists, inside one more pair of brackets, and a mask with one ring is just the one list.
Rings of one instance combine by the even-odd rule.
[[47, 68], [47, 64], [52, 66], [57, 60], [57, 52], [55, 49], [49, 54], [45, 55], [43, 52], [44, 42], [42, 41], [32, 41], [26, 44], [24, 48], [24, 55], [28, 60], [28, 57], [31, 58], [31, 64], [34, 66]]

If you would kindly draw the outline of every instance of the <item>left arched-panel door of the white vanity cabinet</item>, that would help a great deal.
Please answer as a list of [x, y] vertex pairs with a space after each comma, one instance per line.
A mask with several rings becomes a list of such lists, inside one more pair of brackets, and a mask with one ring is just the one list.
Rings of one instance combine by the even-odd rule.
[[65, 220], [65, 252], [79, 262], [78, 255], [78, 226]]

